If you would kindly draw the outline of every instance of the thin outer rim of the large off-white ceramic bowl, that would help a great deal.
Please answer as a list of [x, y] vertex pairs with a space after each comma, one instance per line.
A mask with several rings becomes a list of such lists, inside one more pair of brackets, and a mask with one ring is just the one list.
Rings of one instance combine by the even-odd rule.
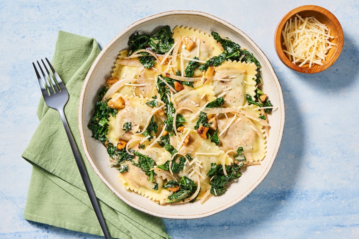
[[[106, 52], [106, 49], [109, 48], [110, 46], [112, 46], [113, 44], [115, 44], [115, 42], [117, 41], [118, 38], [122, 37], [122, 35], [124, 35], [125, 33], [129, 32], [130, 30], [134, 30], [136, 29], [137, 26], [139, 26], [140, 24], [146, 23], [148, 21], [151, 21], [153, 19], [157, 19], [163, 16], [168, 16], [168, 15], [197, 15], [197, 16], [204, 16], [206, 18], [210, 18], [212, 20], [215, 20], [217, 22], [219, 22], [220, 24], [223, 24], [225, 26], [227, 26], [230, 30], [233, 30], [236, 34], [239, 34], [244, 40], [246, 40], [248, 43], [252, 44], [252, 46], [255, 48], [255, 50], [257, 51], [257, 53], [260, 55], [260, 57], [262, 57], [263, 61], [262, 64], [265, 64], [267, 66], [267, 68], [269, 69], [269, 74], [274, 78], [274, 83], [277, 87], [277, 89], [280, 91], [279, 92], [279, 105], [278, 108], [281, 110], [280, 112], [280, 127], [279, 127], [279, 138], [276, 139], [276, 143], [275, 143], [275, 148], [274, 151], [272, 152], [271, 155], [269, 155], [269, 163], [267, 164], [267, 167], [264, 171], [264, 173], [262, 173], [262, 175], [259, 177], [259, 179], [256, 181], [256, 183], [254, 183], [252, 185], [251, 188], [249, 188], [245, 193], [243, 193], [243, 195], [241, 195], [240, 197], [236, 198], [236, 200], [231, 201], [228, 204], [225, 204], [221, 207], [218, 207], [216, 209], [212, 209], [209, 210], [205, 213], [201, 213], [201, 214], [193, 214], [193, 215], [172, 215], [172, 214], [163, 214], [163, 213], [159, 213], [159, 212], [148, 212], [145, 210], [144, 207], [140, 207], [136, 204], [134, 204], [133, 202], [127, 200], [124, 196], [122, 196], [120, 193], [117, 192], [117, 190], [106, 180], [106, 178], [104, 178], [102, 176], [102, 173], [99, 171], [98, 168], [94, 167], [95, 163], [92, 159], [92, 157], [90, 156], [90, 153], [88, 151], [87, 148], [87, 143], [85, 142], [85, 132], [84, 132], [84, 126], [83, 126], [83, 106], [85, 104], [84, 102], [84, 94], [86, 91], [86, 87], [88, 85], [89, 82], [89, 77], [91, 76], [91, 74], [94, 72], [94, 70], [96, 69], [96, 66], [98, 64], [98, 62], [101, 60], [101, 58], [103, 57], [103, 55]], [[99, 55], [95, 58], [95, 61], [93, 62], [92, 66], [89, 69], [89, 72], [84, 80], [84, 84], [83, 87], [81, 89], [81, 94], [80, 94], [80, 101], [79, 101], [79, 111], [78, 111], [78, 120], [79, 120], [79, 132], [80, 132], [80, 138], [81, 138], [81, 145], [83, 147], [83, 150], [85, 152], [85, 156], [88, 159], [91, 167], [93, 168], [93, 170], [95, 171], [95, 173], [97, 174], [97, 176], [101, 179], [101, 181], [119, 198], [121, 199], [123, 202], [125, 202], [126, 204], [130, 205], [131, 207], [134, 207], [137, 210], [146, 212], [150, 215], [153, 216], [158, 216], [161, 218], [168, 218], [168, 219], [195, 219], [195, 218], [204, 218], [206, 216], [210, 216], [210, 215], [214, 215], [220, 211], [223, 211], [225, 209], [228, 209], [229, 207], [237, 204], [238, 202], [240, 202], [241, 200], [243, 200], [245, 197], [247, 197], [263, 180], [264, 178], [267, 176], [267, 174], [269, 173], [275, 158], [278, 154], [280, 145], [281, 145], [281, 140], [283, 138], [283, 132], [284, 132], [284, 124], [285, 124], [285, 110], [284, 110], [284, 98], [283, 98], [283, 92], [281, 91], [281, 86], [280, 86], [280, 82], [278, 80], [278, 77], [276, 76], [276, 73], [272, 67], [272, 64], [269, 62], [269, 59], [266, 57], [266, 55], [264, 54], [264, 52], [257, 46], [257, 44], [255, 42], [253, 42], [253, 40], [251, 38], [249, 38], [245, 33], [243, 33], [240, 29], [238, 29], [237, 27], [234, 27], [234, 25], [228, 23], [227, 21], [224, 21], [214, 15], [208, 14], [208, 13], [204, 13], [201, 11], [191, 11], [191, 10], [174, 10], [174, 11], [165, 11], [162, 13], [158, 13], [155, 15], [151, 15], [148, 17], [145, 17], [143, 19], [137, 20], [134, 23], [132, 23], [131, 25], [129, 25], [128, 27], [126, 27], [125, 29], [123, 29], [120, 33], [118, 33], [116, 35], [116, 37], [114, 37], [108, 44], [106, 44], [106, 46], [102, 49], [102, 51], [99, 53]]]

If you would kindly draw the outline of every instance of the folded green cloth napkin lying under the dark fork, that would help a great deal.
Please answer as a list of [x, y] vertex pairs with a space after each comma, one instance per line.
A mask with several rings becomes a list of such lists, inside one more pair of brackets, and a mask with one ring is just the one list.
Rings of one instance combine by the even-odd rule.
[[[98, 178], [82, 150], [78, 105], [83, 81], [100, 49], [95, 39], [60, 31], [52, 65], [64, 81], [70, 99], [66, 118], [80, 149], [112, 238], [170, 238], [162, 219], [122, 202]], [[40, 89], [39, 89], [40, 90]], [[22, 157], [33, 165], [24, 218], [74, 231], [102, 235], [81, 180], [60, 115], [41, 98], [40, 123]]]

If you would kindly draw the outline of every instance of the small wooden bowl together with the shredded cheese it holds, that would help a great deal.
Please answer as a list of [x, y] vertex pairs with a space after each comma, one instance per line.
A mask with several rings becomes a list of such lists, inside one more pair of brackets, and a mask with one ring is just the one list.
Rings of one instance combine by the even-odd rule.
[[344, 34], [338, 19], [315, 5], [299, 6], [279, 22], [274, 35], [275, 50], [289, 68], [318, 73], [339, 57]]

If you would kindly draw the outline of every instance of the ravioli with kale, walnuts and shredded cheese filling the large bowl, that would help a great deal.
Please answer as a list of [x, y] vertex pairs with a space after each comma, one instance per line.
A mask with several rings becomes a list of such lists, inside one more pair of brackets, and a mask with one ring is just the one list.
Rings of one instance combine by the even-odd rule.
[[127, 190], [202, 204], [265, 158], [273, 106], [262, 84], [252, 53], [215, 32], [134, 33], [89, 127]]

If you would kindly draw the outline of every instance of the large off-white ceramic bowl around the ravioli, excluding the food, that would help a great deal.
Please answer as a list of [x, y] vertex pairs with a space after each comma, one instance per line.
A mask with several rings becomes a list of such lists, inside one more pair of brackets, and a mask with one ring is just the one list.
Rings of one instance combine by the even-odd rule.
[[[94, 105], [98, 100], [98, 92], [106, 85], [110, 77], [114, 62], [120, 50], [127, 48], [127, 41], [134, 32], [153, 33], [159, 27], [169, 25], [173, 29], [176, 25], [183, 25], [200, 29], [210, 34], [211, 30], [228, 37], [230, 40], [246, 47], [262, 65], [264, 92], [269, 96], [272, 104], [277, 107], [268, 116], [270, 136], [267, 139], [267, 153], [260, 166], [246, 169], [238, 181], [230, 185], [228, 191], [219, 197], [210, 197], [204, 204], [199, 201], [190, 204], [158, 205], [136, 192], [127, 191], [118, 180], [118, 171], [109, 167], [108, 154], [105, 147], [91, 137], [92, 132], [87, 125], [94, 113]], [[79, 129], [81, 143], [86, 157], [107, 187], [128, 205], [148, 214], [170, 219], [203, 218], [213, 215], [237, 204], [251, 193], [268, 174], [281, 143], [284, 129], [284, 100], [278, 78], [265, 54], [241, 30], [213, 15], [198, 11], [168, 11], [149, 16], [136, 21], [103, 48], [95, 59], [84, 81], [79, 104]]]

